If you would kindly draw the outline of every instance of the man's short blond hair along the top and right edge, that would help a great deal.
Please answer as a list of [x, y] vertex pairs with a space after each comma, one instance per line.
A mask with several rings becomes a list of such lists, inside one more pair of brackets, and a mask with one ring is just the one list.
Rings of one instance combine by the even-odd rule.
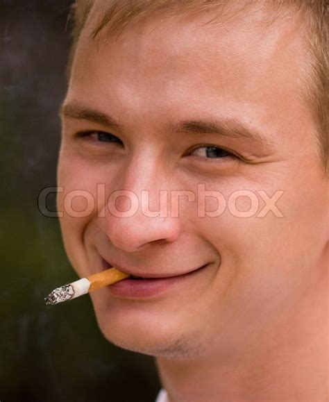
[[[243, 11], [253, 6], [259, 0], [248, 0], [244, 3]], [[325, 171], [328, 167], [328, 120], [329, 120], [329, 88], [328, 88], [328, 0], [266, 0], [276, 6], [276, 10], [293, 7], [296, 12], [302, 12], [305, 24], [305, 38], [308, 45], [309, 62], [305, 66], [304, 96], [317, 123], [317, 141], [319, 156]], [[108, 38], [119, 35], [124, 29], [144, 17], [155, 15], [157, 12], [167, 12], [172, 15], [196, 13], [210, 10], [214, 7], [228, 6], [232, 0], [76, 0], [72, 6], [74, 27], [72, 30], [73, 43], [68, 66], [74, 58], [78, 39], [91, 14], [94, 4], [101, 7], [101, 19], [92, 31], [92, 37], [106, 28]], [[101, 6], [100, 6], [101, 4]]]

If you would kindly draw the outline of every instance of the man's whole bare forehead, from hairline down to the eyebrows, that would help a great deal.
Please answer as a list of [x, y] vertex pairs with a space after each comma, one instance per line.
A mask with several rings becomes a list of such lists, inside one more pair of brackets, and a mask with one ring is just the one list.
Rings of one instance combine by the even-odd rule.
[[93, 40], [94, 17], [78, 42], [68, 97], [108, 107], [112, 115], [123, 108], [146, 118], [208, 110], [273, 130], [278, 116], [287, 116], [281, 131], [288, 133], [292, 115], [307, 118], [299, 96], [305, 43], [294, 12], [271, 19], [268, 7], [222, 16], [219, 10], [158, 15], [115, 39], [107, 40], [104, 29]]

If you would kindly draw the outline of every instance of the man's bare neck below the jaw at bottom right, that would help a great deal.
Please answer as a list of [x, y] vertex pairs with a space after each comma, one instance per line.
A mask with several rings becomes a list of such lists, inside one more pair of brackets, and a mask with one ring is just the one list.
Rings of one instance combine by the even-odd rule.
[[157, 358], [170, 402], [326, 402], [327, 261], [321, 271], [317, 267], [319, 276], [280, 325], [265, 328], [243, 353], [212, 353], [211, 358], [193, 360]]

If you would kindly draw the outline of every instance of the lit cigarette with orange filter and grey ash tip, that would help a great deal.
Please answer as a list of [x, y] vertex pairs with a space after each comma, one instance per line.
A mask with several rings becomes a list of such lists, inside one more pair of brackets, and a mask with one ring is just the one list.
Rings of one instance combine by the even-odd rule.
[[46, 301], [46, 305], [55, 305], [62, 303], [62, 301], [76, 299], [78, 296], [112, 285], [112, 283], [119, 282], [119, 280], [126, 279], [129, 276], [129, 274], [115, 268], [106, 269], [106, 271], [87, 276], [87, 278], [81, 278], [67, 285], [56, 287], [44, 298], [44, 301]]

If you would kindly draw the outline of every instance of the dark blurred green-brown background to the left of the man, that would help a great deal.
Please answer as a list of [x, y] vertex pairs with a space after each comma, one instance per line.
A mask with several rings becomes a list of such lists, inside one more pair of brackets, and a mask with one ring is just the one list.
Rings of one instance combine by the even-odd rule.
[[77, 278], [57, 219], [37, 208], [56, 185], [70, 5], [0, 0], [0, 401], [151, 402], [153, 358], [106, 341], [89, 296], [44, 306]]

